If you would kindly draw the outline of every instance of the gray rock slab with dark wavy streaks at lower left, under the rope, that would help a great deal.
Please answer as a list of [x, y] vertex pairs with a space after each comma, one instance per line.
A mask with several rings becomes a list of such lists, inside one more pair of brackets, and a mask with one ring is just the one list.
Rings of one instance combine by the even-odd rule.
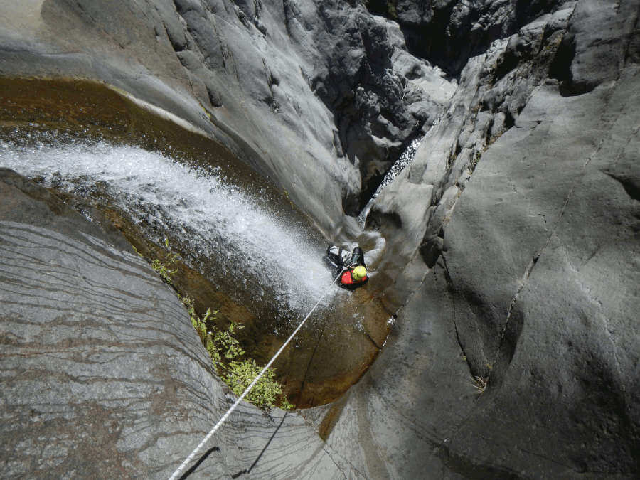
[[[2, 476], [167, 478], [233, 401], [185, 309], [124, 240], [0, 175]], [[343, 476], [301, 417], [248, 404], [201, 454], [191, 478]]]

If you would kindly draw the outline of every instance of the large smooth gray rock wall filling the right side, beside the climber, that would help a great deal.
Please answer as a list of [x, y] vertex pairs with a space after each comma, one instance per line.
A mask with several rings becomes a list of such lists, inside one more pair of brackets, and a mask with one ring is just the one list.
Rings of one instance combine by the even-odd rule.
[[370, 437], [369, 475], [637, 475], [637, 7], [567, 3], [471, 58], [373, 206], [404, 306], [327, 441]]

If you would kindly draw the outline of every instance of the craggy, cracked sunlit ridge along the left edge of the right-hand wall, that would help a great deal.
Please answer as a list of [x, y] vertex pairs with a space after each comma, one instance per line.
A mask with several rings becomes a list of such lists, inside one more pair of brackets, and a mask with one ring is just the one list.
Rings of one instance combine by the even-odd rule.
[[[398, 278], [417, 249], [428, 267], [434, 265], [444, 247], [444, 225], [482, 154], [513, 127], [530, 93], [548, 78], [574, 6], [540, 17], [469, 60], [447, 110], [368, 218], [369, 225], [397, 238], [383, 265], [391, 279]], [[415, 286], [402, 287], [400, 296], [395, 287], [389, 289], [390, 306], [402, 305]]]

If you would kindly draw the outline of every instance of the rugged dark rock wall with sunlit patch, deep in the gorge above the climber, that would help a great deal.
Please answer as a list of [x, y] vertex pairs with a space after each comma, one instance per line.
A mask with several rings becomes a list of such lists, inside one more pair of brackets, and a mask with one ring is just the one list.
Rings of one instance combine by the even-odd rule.
[[306, 12], [293, 2], [284, 6], [292, 39], [314, 41], [309, 83], [336, 117], [340, 151], [360, 170], [363, 192], [343, 199], [345, 212], [357, 215], [407, 139], [434, 122], [453, 87], [407, 53], [396, 23], [361, 6], [321, 1]]

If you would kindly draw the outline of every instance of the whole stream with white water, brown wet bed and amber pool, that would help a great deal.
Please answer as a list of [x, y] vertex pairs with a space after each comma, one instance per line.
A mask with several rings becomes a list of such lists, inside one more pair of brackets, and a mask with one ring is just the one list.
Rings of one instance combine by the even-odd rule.
[[[335, 400], [378, 355], [390, 326], [374, 289], [332, 284], [321, 233], [227, 147], [83, 80], [0, 79], [0, 119], [1, 167], [115, 226], [149, 260], [169, 238], [188, 267], [181, 293], [220, 309], [221, 328], [242, 323], [258, 363], [326, 294], [274, 364], [298, 407]], [[369, 261], [382, 248], [363, 247]]]

